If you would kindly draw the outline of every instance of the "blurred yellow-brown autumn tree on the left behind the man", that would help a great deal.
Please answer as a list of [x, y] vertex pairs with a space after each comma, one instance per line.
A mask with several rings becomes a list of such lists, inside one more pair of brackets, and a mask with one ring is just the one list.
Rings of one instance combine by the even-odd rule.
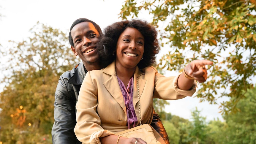
[[52, 143], [54, 93], [59, 76], [78, 62], [67, 34], [37, 23], [23, 42], [1, 51], [0, 139], [3, 143]]

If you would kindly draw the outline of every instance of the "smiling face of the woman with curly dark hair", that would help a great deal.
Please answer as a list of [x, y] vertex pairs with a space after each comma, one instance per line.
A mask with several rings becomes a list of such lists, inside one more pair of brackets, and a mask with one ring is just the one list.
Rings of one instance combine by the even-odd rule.
[[144, 37], [135, 28], [126, 28], [116, 44], [116, 66], [133, 69], [144, 53]]

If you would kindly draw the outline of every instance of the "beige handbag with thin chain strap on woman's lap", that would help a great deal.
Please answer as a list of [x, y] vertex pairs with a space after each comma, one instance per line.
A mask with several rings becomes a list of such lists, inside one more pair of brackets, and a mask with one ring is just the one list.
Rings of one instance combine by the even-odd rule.
[[[140, 95], [139, 95], [139, 78], [137, 77], [137, 86], [138, 86], [138, 98], [139, 98], [139, 112], [140, 112]], [[137, 137], [141, 138], [147, 142], [147, 144], [165, 144], [164, 139], [157, 133], [157, 131], [152, 128], [149, 124], [141, 124], [141, 115], [140, 115], [140, 126], [136, 126], [131, 129], [127, 129], [122, 132], [116, 133], [116, 135], [121, 137]]]

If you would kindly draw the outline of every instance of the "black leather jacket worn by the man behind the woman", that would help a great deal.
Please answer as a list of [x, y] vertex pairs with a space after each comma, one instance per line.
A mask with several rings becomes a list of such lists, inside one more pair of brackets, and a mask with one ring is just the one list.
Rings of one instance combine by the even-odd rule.
[[[53, 144], [81, 144], [74, 132], [75, 105], [86, 72], [83, 63], [80, 63], [60, 76], [55, 92]], [[151, 126], [164, 138], [165, 143], [169, 144], [168, 135], [157, 113], [154, 113]]]

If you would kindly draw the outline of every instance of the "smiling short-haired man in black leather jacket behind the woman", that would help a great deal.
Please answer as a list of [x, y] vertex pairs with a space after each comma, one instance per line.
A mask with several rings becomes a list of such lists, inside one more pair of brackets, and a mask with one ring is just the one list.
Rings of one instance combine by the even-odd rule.
[[[86, 18], [75, 20], [70, 28], [69, 43], [71, 50], [75, 56], [79, 56], [82, 63], [60, 76], [55, 92], [53, 144], [81, 143], [74, 133], [76, 124], [75, 105], [86, 72], [104, 67], [97, 52], [97, 43], [101, 36], [100, 27]], [[154, 114], [151, 126], [164, 138], [166, 143], [169, 143], [168, 135], [159, 115]]]

